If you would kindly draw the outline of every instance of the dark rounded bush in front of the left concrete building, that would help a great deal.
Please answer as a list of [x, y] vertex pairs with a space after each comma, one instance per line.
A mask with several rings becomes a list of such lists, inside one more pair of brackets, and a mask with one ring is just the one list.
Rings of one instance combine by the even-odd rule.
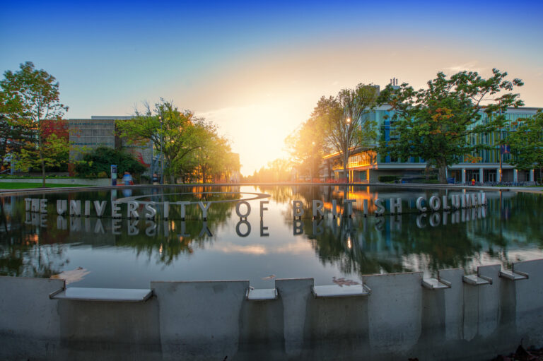
[[111, 165], [117, 165], [117, 174], [130, 172], [133, 175], [145, 172], [147, 168], [142, 165], [134, 155], [124, 150], [98, 147], [91, 153], [83, 155], [83, 162], [77, 163], [75, 171], [82, 177], [100, 177], [103, 173], [111, 177]]

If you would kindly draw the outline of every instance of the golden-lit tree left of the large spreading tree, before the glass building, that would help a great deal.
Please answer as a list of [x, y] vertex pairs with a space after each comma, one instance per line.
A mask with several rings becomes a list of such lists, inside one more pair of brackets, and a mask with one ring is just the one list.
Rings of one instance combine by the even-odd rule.
[[340, 90], [336, 97], [321, 97], [313, 111], [312, 117], [322, 124], [325, 140], [341, 154], [346, 178], [349, 156], [375, 142], [375, 122], [370, 119], [370, 111], [378, 95], [374, 85], [358, 84], [355, 89]]

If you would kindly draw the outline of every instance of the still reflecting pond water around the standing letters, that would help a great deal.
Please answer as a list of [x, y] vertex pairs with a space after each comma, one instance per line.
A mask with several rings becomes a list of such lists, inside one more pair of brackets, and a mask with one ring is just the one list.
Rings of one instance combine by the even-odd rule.
[[[315, 285], [360, 282], [370, 273], [442, 268], [475, 272], [481, 264], [543, 258], [543, 196], [486, 192], [488, 205], [419, 214], [416, 199], [462, 191], [391, 187], [165, 187], [33, 194], [47, 214], [25, 211], [25, 196], [0, 198], [0, 275], [45, 277], [76, 271], [74, 287], [148, 288], [151, 280], [250, 280], [273, 288], [274, 278], [315, 278]], [[375, 217], [375, 200], [402, 199], [402, 215]], [[57, 200], [107, 201], [102, 218], [57, 214]], [[351, 218], [332, 217], [352, 199]], [[368, 216], [363, 215], [363, 200]], [[245, 200], [236, 211], [236, 204]], [[293, 200], [304, 205], [293, 218]], [[314, 220], [313, 200], [325, 215]], [[110, 201], [122, 201], [121, 219]], [[155, 220], [127, 218], [127, 201], [155, 202]], [[170, 202], [163, 220], [163, 202]], [[182, 220], [180, 206], [191, 202]], [[209, 205], [202, 219], [198, 201]], [[206, 203], [211, 201], [211, 203]], [[262, 203], [261, 202], [268, 202]], [[92, 202], [91, 202], [92, 204]], [[93, 206], [92, 206], [93, 207]], [[83, 208], [83, 206], [82, 206]], [[262, 208], [262, 218], [261, 218]], [[264, 209], [267, 208], [267, 209]], [[144, 214], [144, 204], [137, 209]], [[388, 212], [387, 212], [388, 213]]]

